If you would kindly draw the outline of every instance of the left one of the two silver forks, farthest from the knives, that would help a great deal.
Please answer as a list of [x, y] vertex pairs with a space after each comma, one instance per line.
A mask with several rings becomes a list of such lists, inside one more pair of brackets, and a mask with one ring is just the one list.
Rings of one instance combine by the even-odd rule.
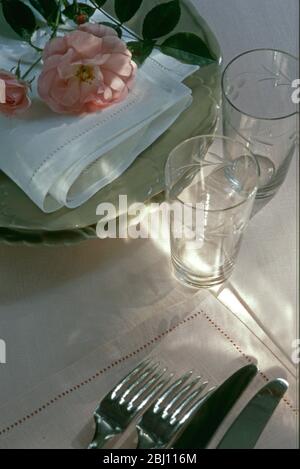
[[96, 431], [89, 449], [102, 448], [106, 441], [126, 430], [168, 382], [163, 377], [166, 370], [160, 369], [159, 363], [146, 360], [107, 394], [94, 414]]

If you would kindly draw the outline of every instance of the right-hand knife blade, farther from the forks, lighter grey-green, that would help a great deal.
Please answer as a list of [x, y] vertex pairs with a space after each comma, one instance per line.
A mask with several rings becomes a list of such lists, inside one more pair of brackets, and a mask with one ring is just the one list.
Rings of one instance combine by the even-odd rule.
[[253, 449], [288, 387], [283, 379], [264, 386], [235, 419], [217, 449]]

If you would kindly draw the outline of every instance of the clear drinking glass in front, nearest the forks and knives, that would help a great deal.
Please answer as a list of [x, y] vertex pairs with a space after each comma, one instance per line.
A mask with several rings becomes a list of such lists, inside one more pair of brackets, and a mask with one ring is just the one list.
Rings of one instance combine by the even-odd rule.
[[211, 287], [230, 276], [257, 183], [253, 154], [226, 137], [194, 137], [172, 151], [166, 194], [172, 263], [180, 280]]

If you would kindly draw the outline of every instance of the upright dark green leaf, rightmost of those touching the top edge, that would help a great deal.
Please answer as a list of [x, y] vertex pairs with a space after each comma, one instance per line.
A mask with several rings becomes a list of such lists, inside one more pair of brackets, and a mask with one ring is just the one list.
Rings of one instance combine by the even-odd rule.
[[179, 0], [172, 0], [156, 6], [145, 18], [143, 37], [145, 39], [157, 39], [169, 34], [179, 23], [180, 16]]

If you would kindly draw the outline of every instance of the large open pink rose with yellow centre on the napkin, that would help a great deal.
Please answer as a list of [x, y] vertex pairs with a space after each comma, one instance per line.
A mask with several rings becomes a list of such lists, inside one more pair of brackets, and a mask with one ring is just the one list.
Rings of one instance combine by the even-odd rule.
[[89, 23], [48, 42], [43, 58], [39, 95], [58, 113], [95, 112], [122, 101], [137, 69], [114, 29]]

